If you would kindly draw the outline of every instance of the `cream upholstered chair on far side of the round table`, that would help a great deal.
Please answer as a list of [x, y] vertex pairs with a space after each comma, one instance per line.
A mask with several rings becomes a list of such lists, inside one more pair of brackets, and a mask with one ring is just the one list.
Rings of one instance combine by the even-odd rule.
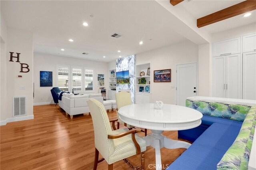
[[[115, 93], [115, 97], [116, 97], [116, 108], [117, 109], [120, 109], [121, 107], [126, 106], [126, 105], [132, 105], [132, 99], [131, 99], [131, 95], [130, 95], [129, 92], [120, 91], [118, 93]], [[134, 128], [134, 126], [128, 125], [128, 124], [122, 122], [119, 119], [118, 111], [117, 111], [117, 119], [118, 119], [118, 121], [117, 121], [117, 129], [119, 129], [120, 123], [124, 124], [124, 126], [128, 127], [129, 129]], [[147, 136], [147, 129], [146, 128], [144, 129], [143, 132], [145, 132], [145, 136]]]

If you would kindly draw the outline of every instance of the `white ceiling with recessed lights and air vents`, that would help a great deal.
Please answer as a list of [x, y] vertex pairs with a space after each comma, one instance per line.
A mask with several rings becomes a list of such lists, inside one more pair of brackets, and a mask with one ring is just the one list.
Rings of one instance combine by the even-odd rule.
[[[239, 2], [241, 0], [191, 0], [177, 6], [197, 19]], [[125, 57], [186, 40], [172, 31], [175, 23], [170, 22], [169, 12], [154, 0], [0, 3], [7, 25], [33, 32], [34, 51], [40, 53], [108, 62], [119, 55]], [[200, 29], [220, 32], [253, 23], [255, 17], [254, 12], [246, 19], [236, 16]], [[83, 22], [88, 22], [89, 26], [82, 26]], [[122, 37], [112, 38], [113, 33]], [[70, 38], [74, 42], [69, 42]], [[139, 45], [140, 41], [144, 44]], [[83, 55], [83, 52], [89, 54]]]

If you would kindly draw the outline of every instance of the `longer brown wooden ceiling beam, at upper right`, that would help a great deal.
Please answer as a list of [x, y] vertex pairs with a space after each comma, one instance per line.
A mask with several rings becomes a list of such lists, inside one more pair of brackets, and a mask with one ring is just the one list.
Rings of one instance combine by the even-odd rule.
[[244, 14], [252, 10], [256, 10], [256, 0], [246, 0], [239, 4], [230, 6], [218, 12], [214, 12], [210, 15], [197, 19], [197, 27], [201, 28], [203, 26], [226, 20], [228, 18]]

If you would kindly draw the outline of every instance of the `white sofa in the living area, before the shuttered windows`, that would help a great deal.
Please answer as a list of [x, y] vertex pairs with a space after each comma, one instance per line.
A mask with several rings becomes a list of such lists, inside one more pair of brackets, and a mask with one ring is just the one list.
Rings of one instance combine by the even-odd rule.
[[103, 101], [101, 93], [84, 95], [63, 93], [62, 100], [59, 100], [59, 106], [66, 112], [66, 115], [70, 115], [70, 119], [73, 119], [73, 115], [90, 112], [86, 101], [91, 98], [100, 101], [104, 105], [106, 110], [110, 111], [112, 109], [112, 103], [108, 101]]

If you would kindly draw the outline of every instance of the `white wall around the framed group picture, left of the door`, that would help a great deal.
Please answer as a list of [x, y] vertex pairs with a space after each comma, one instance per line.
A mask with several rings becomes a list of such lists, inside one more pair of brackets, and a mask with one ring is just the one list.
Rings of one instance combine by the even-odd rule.
[[151, 75], [150, 92], [151, 102], [163, 101], [168, 104], [176, 104], [176, 64], [198, 61], [198, 45], [190, 41], [176, 43], [165, 47], [160, 47], [151, 51], [136, 54], [136, 65], [151, 63], [151, 73], [159, 69], [172, 69], [171, 83], [154, 83]]

